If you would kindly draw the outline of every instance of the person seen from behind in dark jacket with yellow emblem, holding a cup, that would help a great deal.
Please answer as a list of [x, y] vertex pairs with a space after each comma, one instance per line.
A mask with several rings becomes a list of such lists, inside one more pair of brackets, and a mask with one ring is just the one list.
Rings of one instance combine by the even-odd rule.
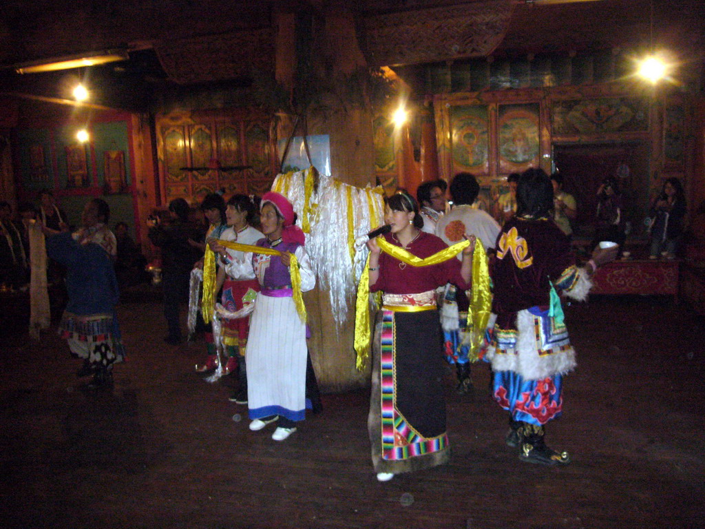
[[563, 465], [544, 442], [544, 425], [563, 411], [563, 377], [575, 368], [555, 288], [587, 298], [589, 276], [614, 260], [617, 248], [596, 248], [588, 265], [575, 265], [570, 239], [553, 221], [551, 179], [529, 169], [517, 186], [517, 215], [503, 226], [492, 274], [496, 315], [486, 359], [494, 372], [494, 399], [510, 412], [509, 446], [530, 463]]

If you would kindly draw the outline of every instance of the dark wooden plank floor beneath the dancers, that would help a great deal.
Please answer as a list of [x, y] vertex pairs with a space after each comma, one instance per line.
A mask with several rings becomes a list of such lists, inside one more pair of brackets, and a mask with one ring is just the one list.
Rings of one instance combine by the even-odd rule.
[[521, 463], [474, 367], [474, 401], [448, 371], [450, 464], [379, 483], [368, 391], [324, 396], [286, 442], [247, 429], [228, 384], [193, 366], [204, 344], [164, 346], [159, 298], [120, 308], [128, 363], [82, 389], [48, 332], [0, 331], [4, 528], [704, 528], [705, 331], [666, 298], [566, 309], [579, 352], [548, 442], [566, 468]]

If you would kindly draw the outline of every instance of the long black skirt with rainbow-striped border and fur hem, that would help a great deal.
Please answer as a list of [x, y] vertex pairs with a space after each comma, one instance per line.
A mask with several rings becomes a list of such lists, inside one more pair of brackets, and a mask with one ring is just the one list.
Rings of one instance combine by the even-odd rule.
[[368, 419], [376, 472], [448, 461], [442, 341], [436, 310], [379, 312]]

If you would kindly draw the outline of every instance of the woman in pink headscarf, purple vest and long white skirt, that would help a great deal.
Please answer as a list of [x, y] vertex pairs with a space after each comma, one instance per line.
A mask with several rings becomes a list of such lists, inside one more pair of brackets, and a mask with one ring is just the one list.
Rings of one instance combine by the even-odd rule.
[[[250, 318], [247, 339], [247, 406], [250, 430], [262, 430], [278, 420], [272, 439], [283, 441], [305, 419], [306, 408], [306, 324], [296, 303], [289, 265], [295, 256], [300, 291], [316, 284], [311, 262], [304, 248], [304, 233], [294, 225], [292, 205], [278, 193], [262, 197], [263, 250], [279, 255], [247, 252], [244, 260], [233, 260], [226, 272], [240, 281], [257, 278], [261, 290]], [[214, 251], [220, 251], [214, 247]], [[300, 299], [299, 299], [300, 303]]]

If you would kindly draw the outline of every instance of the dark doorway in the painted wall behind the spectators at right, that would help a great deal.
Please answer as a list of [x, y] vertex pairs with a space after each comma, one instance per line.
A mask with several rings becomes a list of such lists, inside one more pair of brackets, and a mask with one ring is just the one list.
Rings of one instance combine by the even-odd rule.
[[622, 193], [623, 219], [630, 238], [645, 236], [644, 218], [649, 205], [649, 144], [612, 142], [554, 144], [553, 163], [563, 174], [563, 188], [575, 197], [575, 236], [594, 233], [597, 189], [608, 176], [615, 176]]

